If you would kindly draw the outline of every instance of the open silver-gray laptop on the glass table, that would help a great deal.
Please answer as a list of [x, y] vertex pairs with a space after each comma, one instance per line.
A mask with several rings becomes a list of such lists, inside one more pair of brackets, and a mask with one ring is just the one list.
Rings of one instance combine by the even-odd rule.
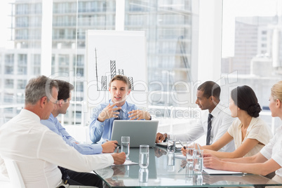
[[157, 120], [115, 120], [111, 140], [117, 140], [120, 144], [122, 136], [129, 136], [130, 147], [154, 147], [158, 126]]

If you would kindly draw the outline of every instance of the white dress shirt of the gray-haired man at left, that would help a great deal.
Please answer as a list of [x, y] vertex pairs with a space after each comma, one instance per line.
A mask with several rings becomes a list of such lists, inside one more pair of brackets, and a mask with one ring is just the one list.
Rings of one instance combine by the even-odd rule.
[[26, 109], [1, 126], [0, 154], [17, 162], [27, 188], [57, 187], [62, 177], [58, 166], [90, 172], [114, 163], [111, 155], [79, 154]]

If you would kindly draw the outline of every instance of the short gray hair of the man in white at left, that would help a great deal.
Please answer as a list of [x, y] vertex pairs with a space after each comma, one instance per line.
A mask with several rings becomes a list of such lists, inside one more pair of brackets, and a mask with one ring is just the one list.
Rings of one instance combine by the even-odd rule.
[[37, 76], [34, 79], [30, 79], [27, 86], [25, 86], [25, 105], [35, 105], [36, 102], [45, 96], [48, 101], [51, 100], [54, 87], [59, 90], [58, 83], [46, 76]]

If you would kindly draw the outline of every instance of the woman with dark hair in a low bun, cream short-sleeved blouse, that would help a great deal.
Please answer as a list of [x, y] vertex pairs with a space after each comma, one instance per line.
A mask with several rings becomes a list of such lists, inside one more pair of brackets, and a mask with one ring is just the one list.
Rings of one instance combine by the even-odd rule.
[[[260, 152], [260, 149], [268, 144], [272, 134], [267, 123], [257, 118], [262, 109], [253, 89], [249, 86], [239, 86], [231, 90], [229, 109], [231, 116], [238, 119], [213, 145], [201, 147], [204, 154], [210, 153], [223, 159], [253, 156]], [[234, 152], [217, 152], [231, 140], [235, 143]]]

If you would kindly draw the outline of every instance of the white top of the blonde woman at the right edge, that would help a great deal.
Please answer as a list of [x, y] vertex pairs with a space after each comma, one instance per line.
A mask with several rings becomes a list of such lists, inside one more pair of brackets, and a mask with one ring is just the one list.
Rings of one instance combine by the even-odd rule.
[[[276, 128], [274, 137], [260, 150], [260, 153], [267, 159], [273, 159], [282, 166], [282, 126]], [[276, 170], [276, 175], [282, 177], [282, 168]]]

